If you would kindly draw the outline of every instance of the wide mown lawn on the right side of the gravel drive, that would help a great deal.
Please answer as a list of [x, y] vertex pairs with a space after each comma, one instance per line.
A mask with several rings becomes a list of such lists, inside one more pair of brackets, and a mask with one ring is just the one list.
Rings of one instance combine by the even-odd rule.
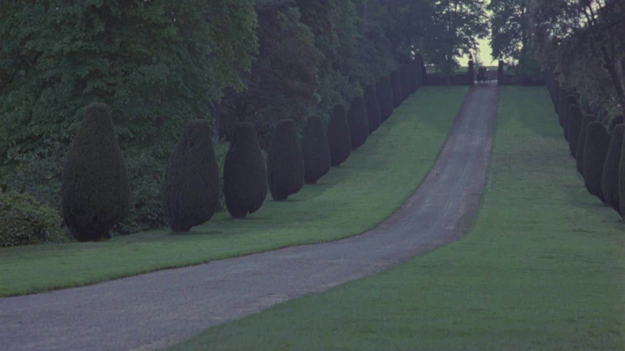
[[625, 224], [576, 175], [544, 87], [504, 87], [461, 240], [175, 350], [623, 350]]

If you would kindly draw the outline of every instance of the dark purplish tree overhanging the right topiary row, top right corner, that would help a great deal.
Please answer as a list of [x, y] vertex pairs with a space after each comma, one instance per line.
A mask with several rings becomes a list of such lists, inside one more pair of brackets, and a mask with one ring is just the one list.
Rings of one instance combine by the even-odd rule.
[[625, 112], [625, 2], [532, 0], [537, 58], [562, 87], [617, 114]]

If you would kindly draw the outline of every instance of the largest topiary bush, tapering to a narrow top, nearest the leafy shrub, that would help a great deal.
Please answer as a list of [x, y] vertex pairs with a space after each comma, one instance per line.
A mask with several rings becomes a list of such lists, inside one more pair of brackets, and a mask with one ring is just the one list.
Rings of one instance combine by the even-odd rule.
[[61, 181], [63, 220], [79, 241], [110, 237], [130, 210], [130, 184], [111, 112], [94, 102], [71, 142]]

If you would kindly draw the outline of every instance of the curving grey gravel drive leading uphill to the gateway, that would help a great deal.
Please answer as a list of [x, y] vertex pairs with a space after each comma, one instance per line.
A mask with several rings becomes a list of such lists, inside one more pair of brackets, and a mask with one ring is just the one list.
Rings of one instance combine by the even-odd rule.
[[374, 229], [336, 242], [0, 299], [0, 349], [161, 349], [458, 239], [479, 207], [498, 93], [480, 86], [467, 94], [424, 183]]

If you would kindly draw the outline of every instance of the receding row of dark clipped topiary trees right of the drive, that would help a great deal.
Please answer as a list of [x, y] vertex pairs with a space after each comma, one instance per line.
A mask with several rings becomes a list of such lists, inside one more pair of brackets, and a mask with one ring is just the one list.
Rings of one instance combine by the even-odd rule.
[[562, 89], [546, 75], [549, 96], [557, 113], [576, 169], [588, 192], [625, 217], [625, 144], [623, 117], [605, 121], [604, 113], [582, 104], [580, 96]]

